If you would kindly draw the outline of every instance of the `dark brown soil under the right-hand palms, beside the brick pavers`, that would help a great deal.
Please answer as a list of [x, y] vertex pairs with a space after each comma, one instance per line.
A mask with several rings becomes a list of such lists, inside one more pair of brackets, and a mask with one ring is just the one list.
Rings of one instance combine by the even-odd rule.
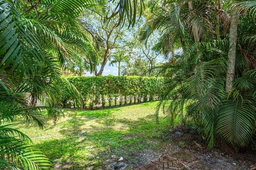
[[[207, 169], [253, 169], [255, 167], [256, 152], [239, 153], [247, 158], [241, 160], [223, 152], [220, 148], [207, 149], [201, 136], [193, 129], [179, 126], [169, 132], [172, 134], [172, 143], [163, 146], [163, 154], [173, 155], [174, 152], [179, 150], [186, 153], [180, 157], [181, 161], [189, 162], [196, 158], [197, 164], [191, 166], [191, 169], [203, 169], [205, 163], [212, 165], [211, 168]], [[191, 157], [191, 155], [193, 156]]]

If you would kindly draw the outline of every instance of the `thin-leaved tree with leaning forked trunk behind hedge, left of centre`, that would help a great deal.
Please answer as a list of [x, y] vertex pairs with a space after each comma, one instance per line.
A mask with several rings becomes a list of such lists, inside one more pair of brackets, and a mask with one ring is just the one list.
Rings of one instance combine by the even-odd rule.
[[98, 54], [100, 70], [97, 68], [94, 71], [95, 75], [102, 75], [105, 65], [109, 61], [109, 56], [112, 52], [119, 48], [127, 46], [127, 37], [125, 35], [126, 28], [118, 27], [119, 20], [114, 16], [110, 20], [106, 20], [108, 16], [114, 13], [114, 3], [109, 3], [105, 15], [95, 16], [94, 14], [87, 14], [83, 18], [83, 25], [87, 30], [93, 30], [92, 36], [97, 36], [100, 39], [98, 45]]

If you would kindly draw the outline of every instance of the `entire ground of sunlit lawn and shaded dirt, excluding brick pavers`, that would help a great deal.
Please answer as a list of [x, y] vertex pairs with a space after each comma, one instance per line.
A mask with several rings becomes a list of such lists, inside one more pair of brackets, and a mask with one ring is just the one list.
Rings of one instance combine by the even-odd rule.
[[[161, 115], [155, 123], [157, 101], [97, 111], [65, 111], [65, 117], [45, 130], [17, 127], [34, 141], [53, 163], [53, 169], [134, 169], [165, 154], [184, 151], [217, 169], [250, 169], [218, 149], [202, 148], [193, 130], [173, 130]], [[247, 152], [245, 152], [247, 155]], [[251, 154], [252, 160], [255, 158]], [[182, 159], [182, 158], [180, 158]]]

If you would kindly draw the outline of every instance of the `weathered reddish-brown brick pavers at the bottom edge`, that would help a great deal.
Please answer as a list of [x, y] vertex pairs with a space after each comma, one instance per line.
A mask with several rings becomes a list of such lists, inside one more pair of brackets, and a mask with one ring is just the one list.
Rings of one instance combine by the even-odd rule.
[[175, 158], [165, 155], [163, 157], [151, 160], [150, 163], [135, 168], [135, 170], [180, 170], [186, 169]]

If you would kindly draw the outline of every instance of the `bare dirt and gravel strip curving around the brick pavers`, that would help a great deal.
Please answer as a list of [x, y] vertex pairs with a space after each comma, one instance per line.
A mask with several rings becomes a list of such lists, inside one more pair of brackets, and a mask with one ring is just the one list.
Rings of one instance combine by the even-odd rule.
[[[118, 162], [117, 158], [110, 159], [107, 162], [108, 169], [134, 169], [164, 155], [174, 157], [185, 164], [188, 169], [256, 169], [255, 152], [248, 150], [240, 153], [248, 158], [241, 160], [223, 152], [220, 148], [206, 149], [200, 135], [189, 128], [166, 128], [162, 140], [163, 145], [157, 149], [147, 149], [133, 155], [124, 155], [124, 160], [121, 162]], [[132, 157], [132, 159], [125, 160], [126, 156]]]

